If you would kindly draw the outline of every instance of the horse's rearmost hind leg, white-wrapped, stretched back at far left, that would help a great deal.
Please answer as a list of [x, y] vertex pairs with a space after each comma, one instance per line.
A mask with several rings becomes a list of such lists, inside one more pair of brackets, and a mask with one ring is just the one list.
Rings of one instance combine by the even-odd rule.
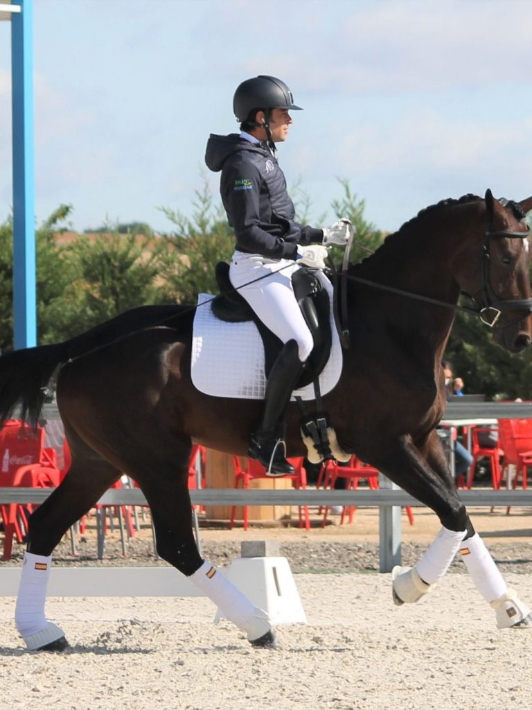
[[62, 629], [46, 620], [45, 603], [52, 552], [68, 528], [87, 513], [120, 472], [77, 437], [70, 435], [72, 466], [62, 484], [35, 510], [28, 527], [16, 600], [18, 633], [31, 650], [63, 650]]

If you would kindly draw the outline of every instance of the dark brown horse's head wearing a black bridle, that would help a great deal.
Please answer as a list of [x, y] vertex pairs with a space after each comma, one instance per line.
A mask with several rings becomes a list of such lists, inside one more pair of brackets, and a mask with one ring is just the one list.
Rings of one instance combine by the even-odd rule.
[[510, 352], [532, 343], [532, 293], [528, 236], [523, 221], [532, 197], [521, 202], [485, 195], [482, 288], [472, 293], [482, 308], [482, 320], [493, 327], [494, 341]]

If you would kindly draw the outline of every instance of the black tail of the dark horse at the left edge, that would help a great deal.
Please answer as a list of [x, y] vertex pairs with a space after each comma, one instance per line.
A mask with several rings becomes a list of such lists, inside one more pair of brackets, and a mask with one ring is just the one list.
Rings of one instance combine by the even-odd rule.
[[0, 427], [13, 416], [35, 424], [48, 382], [67, 359], [68, 342], [16, 350], [0, 357]]

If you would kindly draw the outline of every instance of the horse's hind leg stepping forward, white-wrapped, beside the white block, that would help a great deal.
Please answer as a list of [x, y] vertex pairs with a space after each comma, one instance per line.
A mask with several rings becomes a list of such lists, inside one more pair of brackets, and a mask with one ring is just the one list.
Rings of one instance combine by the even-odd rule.
[[201, 559], [192, 532], [187, 477], [162, 476], [161, 469], [139, 481], [153, 516], [157, 553], [189, 577], [218, 606], [223, 616], [245, 631], [257, 646], [272, 646], [274, 630], [267, 613], [253, 604], [213, 564]]

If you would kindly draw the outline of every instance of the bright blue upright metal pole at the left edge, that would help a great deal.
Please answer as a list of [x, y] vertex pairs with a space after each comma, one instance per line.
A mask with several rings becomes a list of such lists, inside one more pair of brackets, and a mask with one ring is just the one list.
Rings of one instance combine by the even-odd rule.
[[37, 344], [33, 170], [33, 0], [11, 16], [13, 320], [15, 349]]

